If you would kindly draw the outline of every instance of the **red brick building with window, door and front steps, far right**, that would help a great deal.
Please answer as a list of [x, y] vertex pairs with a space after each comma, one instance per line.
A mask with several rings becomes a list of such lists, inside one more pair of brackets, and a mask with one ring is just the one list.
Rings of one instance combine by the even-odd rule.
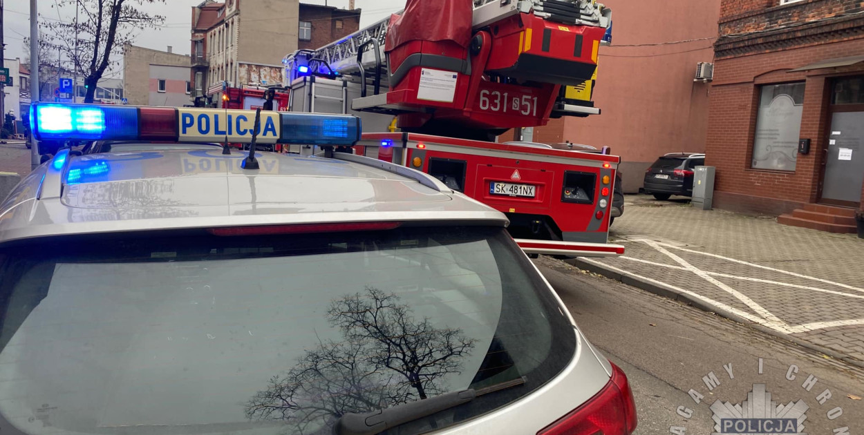
[[706, 154], [718, 208], [854, 232], [864, 199], [864, 1], [723, 0]]

